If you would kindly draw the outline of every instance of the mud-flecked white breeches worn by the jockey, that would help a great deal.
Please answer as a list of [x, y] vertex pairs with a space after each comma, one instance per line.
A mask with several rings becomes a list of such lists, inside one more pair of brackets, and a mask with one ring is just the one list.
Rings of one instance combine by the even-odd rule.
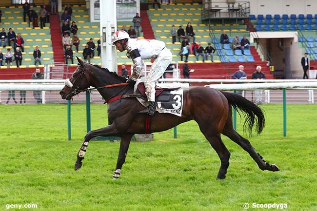
[[145, 93], [148, 101], [155, 101], [155, 82], [164, 74], [172, 62], [172, 53], [166, 47], [158, 54], [144, 81]]

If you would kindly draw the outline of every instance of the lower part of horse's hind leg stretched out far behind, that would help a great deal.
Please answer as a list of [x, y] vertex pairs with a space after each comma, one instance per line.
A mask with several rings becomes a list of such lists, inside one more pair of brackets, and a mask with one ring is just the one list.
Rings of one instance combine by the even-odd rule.
[[[227, 126], [227, 125], [226, 125]], [[245, 151], [247, 151], [250, 156], [256, 161], [256, 163], [258, 164], [258, 168], [260, 168], [261, 170], [268, 170], [268, 171], [272, 171], [272, 172], [277, 172], [279, 171], [277, 165], [275, 164], [269, 164], [268, 162], [266, 162], [265, 160], [263, 160], [263, 157], [257, 153], [257, 151], [252, 147], [251, 143], [249, 142], [248, 139], [242, 137], [240, 134], [238, 134], [237, 131], [235, 131], [232, 126], [228, 126], [229, 129], [227, 129], [227, 127], [225, 127], [224, 131], [222, 132], [222, 134], [228, 136], [231, 140], [233, 140], [234, 142], [236, 142], [240, 147], [242, 147], [242, 149], [244, 149]]]

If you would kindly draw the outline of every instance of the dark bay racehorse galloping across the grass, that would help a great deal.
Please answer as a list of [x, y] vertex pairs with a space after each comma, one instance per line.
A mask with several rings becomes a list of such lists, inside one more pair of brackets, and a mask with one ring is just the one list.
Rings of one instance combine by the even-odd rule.
[[[106, 101], [114, 96], [133, 94], [134, 86], [132, 84], [105, 88], [106, 85], [124, 83], [126, 79], [119, 77], [108, 69], [85, 63], [79, 58], [77, 59], [79, 62], [77, 69], [59, 93], [62, 99], [72, 99], [73, 96], [86, 91], [91, 86], [96, 87]], [[220, 158], [221, 165], [217, 179], [224, 179], [226, 177], [230, 158], [230, 152], [223, 144], [220, 134], [228, 136], [248, 152], [258, 164], [259, 169], [272, 172], [279, 171], [275, 164], [269, 164], [263, 160], [262, 156], [252, 147], [251, 143], [233, 128], [232, 107], [239, 109], [245, 116], [244, 128], [249, 131], [249, 134], [252, 133], [253, 126], [255, 126], [258, 134], [262, 132], [265, 117], [262, 110], [256, 104], [237, 94], [207, 87], [186, 89], [183, 91], [183, 95], [182, 115], [177, 116], [156, 112], [152, 117], [151, 132], [166, 131], [183, 122], [195, 120], [199, 125], [201, 133], [204, 134]], [[77, 153], [75, 171], [79, 170], [82, 166], [82, 160], [84, 159], [90, 139], [97, 136], [119, 136], [121, 138], [119, 156], [117, 167], [113, 174], [113, 178], [119, 178], [132, 136], [134, 134], [145, 134], [145, 114], [139, 113], [143, 110], [144, 107], [135, 97], [120, 98], [108, 103], [109, 125], [90, 131], [85, 135]]]

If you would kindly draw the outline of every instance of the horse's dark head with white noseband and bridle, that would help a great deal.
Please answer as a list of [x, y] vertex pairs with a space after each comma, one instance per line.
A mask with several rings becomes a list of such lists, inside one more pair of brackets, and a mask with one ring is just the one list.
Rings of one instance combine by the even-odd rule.
[[62, 99], [71, 99], [73, 96], [90, 87], [89, 81], [87, 79], [88, 74], [86, 70], [87, 65], [89, 64], [83, 62], [78, 57], [77, 60], [79, 62], [79, 65], [77, 66], [72, 77], [66, 79], [65, 86], [59, 92], [59, 95]]

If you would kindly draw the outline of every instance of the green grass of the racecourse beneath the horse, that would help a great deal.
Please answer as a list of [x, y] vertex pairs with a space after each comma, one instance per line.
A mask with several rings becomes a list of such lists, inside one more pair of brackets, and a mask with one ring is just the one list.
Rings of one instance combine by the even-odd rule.
[[[91, 142], [82, 168], [74, 171], [86, 130], [84, 105], [72, 107], [72, 141], [66, 105], [0, 105], [0, 211], [6, 204], [38, 205], [25, 211], [243, 211], [244, 203], [316, 211], [317, 106], [288, 105], [287, 137], [282, 106], [262, 108], [266, 127], [249, 140], [280, 172], [262, 172], [222, 136], [230, 166], [227, 178], [216, 180], [218, 155], [191, 121], [178, 126], [178, 139], [169, 130], [155, 134], [155, 141], [133, 142], [120, 179], [113, 180], [119, 142]], [[92, 105], [92, 129], [105, 125], [106, 106]]]

